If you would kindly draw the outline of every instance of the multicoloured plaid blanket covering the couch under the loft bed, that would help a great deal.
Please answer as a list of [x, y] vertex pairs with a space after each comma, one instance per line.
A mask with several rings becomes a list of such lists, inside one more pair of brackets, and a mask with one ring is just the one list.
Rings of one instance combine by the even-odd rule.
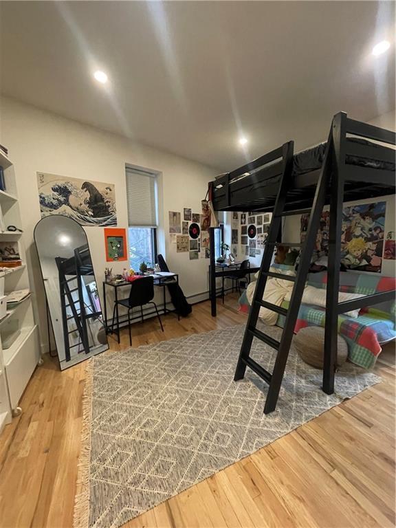
[[[279, 265], [280, 269], [285, 268]], [[327, 284], [327, 273], [309, 274], [307, 284], [315, 287], [325, 288]], [[340, 273], [340, 291], [355, 292], [357, 294], [371, 295], [396, 289], [396, 279], [381, 275], [359, 274], [351, 272]], [[249, 303], [245, 292], [239, 299], [240, 310], [247, 313]], [[288, 302], [282, 306], [287, 308]], [[325, 308], [314, 305], [301, 305], [294, 331], [309, 326], [325, 327]], [[338, 316], [338, 333], [348, 344], [348, 358], [351, 362], [370, 369], [382, 351], [381, 343], [396, 338], [395, 327], [396, 303], [395, 300], [386, 301], [373, 307], [360, 310], [356, 319], [340, 315]], [[283, 327], [285, 316], [279, 316], [278, 326]]]

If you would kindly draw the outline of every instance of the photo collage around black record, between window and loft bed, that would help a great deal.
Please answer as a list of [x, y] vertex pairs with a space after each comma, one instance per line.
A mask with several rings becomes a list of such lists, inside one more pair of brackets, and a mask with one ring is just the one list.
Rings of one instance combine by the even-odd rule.
[[201, 212], [184, 208], [183, 212], [169, 211], [169, 239], [176, 244], [177, 253], [188, 253], [190, 261], [209, 259], [210, 208], [201, 201]]

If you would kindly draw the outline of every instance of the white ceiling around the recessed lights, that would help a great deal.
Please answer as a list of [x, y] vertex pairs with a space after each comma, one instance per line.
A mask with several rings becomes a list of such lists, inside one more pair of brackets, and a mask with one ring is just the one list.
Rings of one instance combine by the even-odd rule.
[[[395, 107], [392, 1], [0, 9], [3, 94], [221, 170], [289, 139], [325, 139], [338, 111], [369, 120]], [[375, 58], [383, 39], [391, 50]]]

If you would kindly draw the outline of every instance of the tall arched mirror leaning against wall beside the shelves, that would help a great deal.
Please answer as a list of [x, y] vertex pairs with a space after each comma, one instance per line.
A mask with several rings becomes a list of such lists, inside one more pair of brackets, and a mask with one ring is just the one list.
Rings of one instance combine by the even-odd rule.
[[61, 370], [109, 349], [85, 231], [61, 214], [34, 229]]

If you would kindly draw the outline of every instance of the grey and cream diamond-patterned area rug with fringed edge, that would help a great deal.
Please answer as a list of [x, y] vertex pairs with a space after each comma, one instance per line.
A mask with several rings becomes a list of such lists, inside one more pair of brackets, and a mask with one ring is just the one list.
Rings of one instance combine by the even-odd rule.
[[[250, 369], [233, 381], [243, 331], [235, 326], [91, 359], [76, 527], [119, 527], [380, 381], [347, 363], [336, 393], [326, 395], [322, 372], [292, 349], [278, 407], [263, 415], [267, 385]], [[273, 349], [254, 340], [252, 357], [272, 371]]]

